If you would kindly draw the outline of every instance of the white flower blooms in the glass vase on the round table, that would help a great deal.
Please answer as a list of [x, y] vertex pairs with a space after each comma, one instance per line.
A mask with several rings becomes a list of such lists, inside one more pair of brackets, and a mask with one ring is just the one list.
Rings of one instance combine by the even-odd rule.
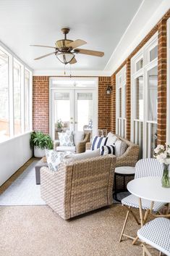
[[165, 165], [170, 165], [170, 145], [158, 145], [156, 149], [154, 149], [154, 156], [158, 160]]

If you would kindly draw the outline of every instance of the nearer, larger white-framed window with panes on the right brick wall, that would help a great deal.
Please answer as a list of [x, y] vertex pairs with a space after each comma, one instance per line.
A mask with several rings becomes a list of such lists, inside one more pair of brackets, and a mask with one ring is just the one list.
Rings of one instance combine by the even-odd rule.
[[140, 157], [153, 157], [157, 145], [158, 36], [150, 38], [131, 60], [132, 141], [140, 146]]

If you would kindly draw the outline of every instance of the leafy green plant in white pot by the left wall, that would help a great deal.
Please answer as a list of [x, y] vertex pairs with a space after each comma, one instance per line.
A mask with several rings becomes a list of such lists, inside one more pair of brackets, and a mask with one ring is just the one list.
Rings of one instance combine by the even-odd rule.
[[34, 148], [35, 157], [44, 157], [45, 149], [53, 149], [53, 141], [48, 134], [41, 131], [33, 131], [30, 136], [30, 146]]

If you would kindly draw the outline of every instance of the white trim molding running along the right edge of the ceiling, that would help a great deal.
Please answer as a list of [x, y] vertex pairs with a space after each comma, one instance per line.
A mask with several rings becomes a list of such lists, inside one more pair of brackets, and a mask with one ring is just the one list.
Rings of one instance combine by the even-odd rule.
[[[156, 9], [156, 12], [154, 12], [153, 15], [150, 17], [150, 20], [148, 20], [148, 22], [145, 23], [143, 29], [140, 30], [138, 34], [134, 35], [135, 39], [132, 41], [132, 35], [131, 38], [129, 37], [129, 30], [132, 29], [132, 25], [137, 24], [137, 19], [139, 19], [141, 12], [143, 12], [143, 6], [145, 2], [146, 1], [144, 0], [142, 4], [140, 4], [137, 13], [132, 19], [132, 22], [130, 22], [127, 30], [124, 32], [124, 35], [119, 41], [119, 44], [116, 46], [116, 49], [111, 55], [109, 62], [106, 64], [106, 67], [104, 68], [105, 71], [108, 70], [110, 72], [110, 75], [112, 75], [119, 68], [119, 66], [122, 65], [124, 60], [127, 59], [127, 57], [129, 57], [132, 51], [134, 51], [134, 49], [138, 46], [138, 44], [140, 44], [143, 38], [147, 36], [150, 30], [152, 30], [152, 28], [158, 23], [159, 20], [161, 20], [163, 15], [165, 15], [170, 8], [169, 0], [164, 0], [163, 2], [161, 2], [159, 7]], [[132, 43], [129, 44], [129, 42], [131, 41]], [[120, 52], [122, 54], [120, 54]]]

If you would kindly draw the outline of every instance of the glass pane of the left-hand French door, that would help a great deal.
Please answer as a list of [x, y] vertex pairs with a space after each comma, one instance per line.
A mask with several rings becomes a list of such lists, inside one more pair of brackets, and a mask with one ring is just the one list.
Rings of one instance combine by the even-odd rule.
[[69, 93], [58, 92], [54, 94], [54, 120], [55, 139], [59, 139], [58, 132], [69, 130], [70, 118], [70, 96]]

